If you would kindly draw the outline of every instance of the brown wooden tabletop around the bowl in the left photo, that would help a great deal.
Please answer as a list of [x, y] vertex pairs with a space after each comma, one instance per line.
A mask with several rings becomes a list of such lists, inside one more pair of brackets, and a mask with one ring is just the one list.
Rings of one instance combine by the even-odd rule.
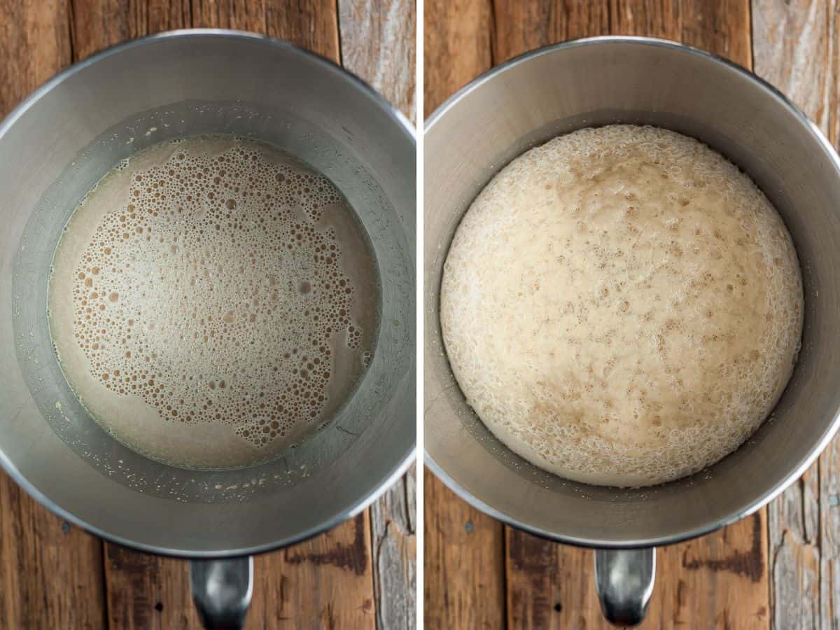
[[[267, 33], [344, 61], [413, 116], [411, 0], [0, 0], [0, 114], [105, 46], [191, 26]], [[415, 627], [413, 491], [407, 475], [344, 525], [255, 559], [248, 627]], [[0, 628], [104, 627], [200, 627], [186, 563], [102, 543], [0, 474]]]

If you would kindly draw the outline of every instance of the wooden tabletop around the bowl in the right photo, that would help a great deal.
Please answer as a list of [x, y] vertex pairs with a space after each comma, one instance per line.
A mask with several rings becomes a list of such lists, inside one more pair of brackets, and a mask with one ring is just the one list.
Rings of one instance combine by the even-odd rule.
[[[429, 0], [424, 19], [427, 115], [482, 71], [526, 50], [587, 35], [640, 34], [754, 67], [837, 144], [837, 0]], [[840, 627], [838, 472], [835, 440], [767, 509], [660, 549], [642, 627]], [[607, 627], [591, 551], [503, 527], [428, 471], [424, 484], [429, 630]]]

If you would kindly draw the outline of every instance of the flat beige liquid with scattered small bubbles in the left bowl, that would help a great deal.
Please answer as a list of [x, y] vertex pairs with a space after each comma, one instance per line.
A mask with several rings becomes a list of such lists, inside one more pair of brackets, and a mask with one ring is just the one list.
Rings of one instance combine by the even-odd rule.
[[97, 422], [172, 465], [276, 457], [333, 417], [370, 359], [375, 259], [328, 179], [202, 137], [118, 165], [71, 215], [50, 331]]

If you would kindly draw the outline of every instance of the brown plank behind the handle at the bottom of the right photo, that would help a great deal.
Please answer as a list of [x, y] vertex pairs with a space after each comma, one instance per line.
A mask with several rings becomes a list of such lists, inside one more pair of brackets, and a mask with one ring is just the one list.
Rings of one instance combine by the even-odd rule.
[[[642, 630], [769, 627], [767, 538], [761, 514], [706, 538], [659, 549]], [[592, 552], [507, 528], [507, 627], [602, 628]]]

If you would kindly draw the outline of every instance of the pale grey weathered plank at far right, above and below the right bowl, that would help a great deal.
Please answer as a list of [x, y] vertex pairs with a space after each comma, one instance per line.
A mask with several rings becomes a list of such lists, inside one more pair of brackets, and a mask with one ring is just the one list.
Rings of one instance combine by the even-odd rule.
[[[836, 145], [836, 0], [754, 0], [753, 38], [756, 73], [785, 92]], [[840, 626], [838, 454], [835, 441], [769, 506], [774, 628]]]

